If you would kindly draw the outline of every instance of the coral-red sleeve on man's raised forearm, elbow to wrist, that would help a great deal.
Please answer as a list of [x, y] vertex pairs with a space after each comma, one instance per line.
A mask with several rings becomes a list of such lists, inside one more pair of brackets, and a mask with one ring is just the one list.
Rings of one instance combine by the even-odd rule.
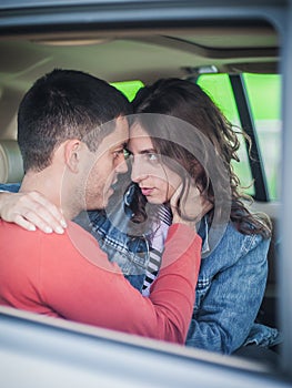
[[201, 263], [201, 238], [182, 224], [170, 227], [162, 267], [151, 287], [160, 338], [184, 344]]

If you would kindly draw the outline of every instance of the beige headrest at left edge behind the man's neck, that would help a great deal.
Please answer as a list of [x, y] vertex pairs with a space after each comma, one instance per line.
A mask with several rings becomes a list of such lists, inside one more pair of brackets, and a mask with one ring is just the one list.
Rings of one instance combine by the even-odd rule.
[[22, 156], [16, 140], [0, 140], [0, 183], [18, 183], [23, 177]]

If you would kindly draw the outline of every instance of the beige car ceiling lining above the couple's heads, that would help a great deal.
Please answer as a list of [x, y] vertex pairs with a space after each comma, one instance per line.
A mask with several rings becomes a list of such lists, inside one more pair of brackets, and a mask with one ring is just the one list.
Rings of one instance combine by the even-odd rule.
[[0, 137], [14, 139], [23, 93], [53, 68], [87, 71], [108, 82], [144, 84], [202, 72], [278, 72], [279, 37], [271, 24], [261, 20], [226, 24], [2, 35]]

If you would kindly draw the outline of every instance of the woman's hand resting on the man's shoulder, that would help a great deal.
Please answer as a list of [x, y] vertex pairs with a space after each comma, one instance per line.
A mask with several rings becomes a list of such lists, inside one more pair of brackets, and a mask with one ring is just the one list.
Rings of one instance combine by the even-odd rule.
[[27, 231], [62, 234], [67, 227], [61, 211], [38, 192], [0, 193], [0, 217]]

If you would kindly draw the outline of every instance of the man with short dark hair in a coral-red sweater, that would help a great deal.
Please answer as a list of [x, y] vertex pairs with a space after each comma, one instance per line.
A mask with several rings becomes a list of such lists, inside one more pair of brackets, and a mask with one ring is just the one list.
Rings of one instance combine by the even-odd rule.
[[149, 298], [70, 221], [82, 210], [104, 207], [118, 174], [127, 172], [128, 113], [119, 91], [78, 71], [54, 70], [24, 95], [18, 114], [26, 171], [20, 192], [46, 195], [68, 226], [63, 234], [44, 234], [0, 221], [0, 304], [183, 344], [201, 241], [175, 208]]

